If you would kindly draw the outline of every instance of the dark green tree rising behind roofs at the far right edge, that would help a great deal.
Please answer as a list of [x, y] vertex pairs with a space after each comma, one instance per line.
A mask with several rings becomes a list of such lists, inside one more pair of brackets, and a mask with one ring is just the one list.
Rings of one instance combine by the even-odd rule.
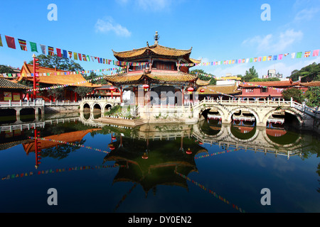
[[301, 70], [294, 70], [291, 72], [289, 78], [291, 78], [292, 81], [298, 81], [299, 77], [301, 77], [301, 82], [320, 80], [320, 63], [317, 65], [316, 62], [313, 62]]

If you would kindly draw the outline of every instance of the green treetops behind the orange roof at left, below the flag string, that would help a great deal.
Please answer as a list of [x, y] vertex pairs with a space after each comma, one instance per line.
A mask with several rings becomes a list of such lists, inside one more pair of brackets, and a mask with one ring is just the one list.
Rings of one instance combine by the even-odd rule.
[[[58, 57], [58, 55], [38, 55], [38, 63], [41, 67], [48, 67], [57, 70], [65, 70], [65, 71], [83, 71], [83, 68], [80, 64], [64, 57]], [[31, 60], [28, 64], [33, 65], [33, 60]]]

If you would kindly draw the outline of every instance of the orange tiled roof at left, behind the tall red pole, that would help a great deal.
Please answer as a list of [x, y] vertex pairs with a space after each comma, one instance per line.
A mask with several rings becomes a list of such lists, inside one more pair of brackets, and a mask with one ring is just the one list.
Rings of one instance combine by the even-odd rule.
[[[90, 82], [85, 82], [86, 79], [82, 77], [82, 74], [55, 74], [56, 72], [67, 72], [64, 70], [55, 70], [47, 67], [39, 67], [39, 70], [37, 70], [39, 73], [50, 73], [48, 76], [41, 76], [38, 77], [39, 83], [43, 84], [59, 84], [59, 85], [65, 85], [65, 84], [75, 84], [73, 86], [76, 87], [101, 87], [100, 84], [92, 84]], [[23, 77], [21, 77], [18, 80], [21, 79], [28, 79], [29, 81], [33, 81], [33, 77], [27, 76], [26, 74], [33, 73], [33, 65], [28, 65], [26, 62], [23, 64], [21, 68], [21, 74], [25, 74]], [[85, 83], [84, 83], [85, 82]]]

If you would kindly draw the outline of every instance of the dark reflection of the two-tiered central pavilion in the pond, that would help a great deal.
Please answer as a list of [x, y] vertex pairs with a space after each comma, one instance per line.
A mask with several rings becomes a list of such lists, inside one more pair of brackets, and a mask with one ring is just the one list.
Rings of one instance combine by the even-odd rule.
[[[142, 133], [143, 134], [143, 133]], [[194, 157], [206, 152], [192, 138], [171, 138], [164, 143], [160, 139], [139, 140], [117, 136], [117, 141], [110, 143], [112, 151], [105, 157], [104, 162], [115, 161], [120, 168], [114, 182], [134, 182], [142, 185], [147, 194], [150, 189], [156, 190], [157, 185], [176, 185], [188, 189], [186, 179], [174, 173], [184, 175], [197, 172]], [[142, 137], [142, 135], [141, 135]], [[190, 148], [191, 154], [186, 153]]]

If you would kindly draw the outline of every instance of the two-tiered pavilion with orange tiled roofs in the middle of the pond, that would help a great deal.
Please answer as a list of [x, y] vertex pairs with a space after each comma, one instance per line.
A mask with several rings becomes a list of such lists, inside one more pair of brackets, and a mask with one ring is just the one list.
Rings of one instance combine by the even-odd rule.
[[[132, 92], [132, 104], [184, 104], [185, 94], [189, 94], [191, 90], [196, 91], [198, 86], [198, 77], [189, 74], [191, 66], [184, 66], [201, 62], [190, 57], [191, 50], [192, 48], [178, 50], [159, 45], [159, 35], [156, 32], [154, 45], [147, 42], [144, 48], [122, 52], [112, 50], [117, 60], [129, 64], [126, 72], [106, 76], [105, 79], [119, 89], [120, 96], [124, 90]], [[149, 96], [146, 95], [147, 92]]]

